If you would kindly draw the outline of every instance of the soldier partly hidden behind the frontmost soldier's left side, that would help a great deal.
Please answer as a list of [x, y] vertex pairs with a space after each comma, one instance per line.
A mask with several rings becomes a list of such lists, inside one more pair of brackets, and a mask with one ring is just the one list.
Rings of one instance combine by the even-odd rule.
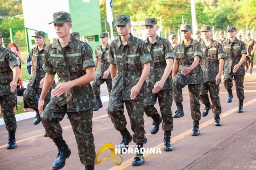
[[[42, 92], [42, 85], [45, 77], [45, 72], [43, 71], [43, 63], [45, 62], [45, 32], [43, 31], [36, 31], [35, 35], [32, 36], [35, 39], [35, 46], [31, 52], [30, 56], [31, 59], [31, 76], [29, 79], [29, 82], [27, 84], [27, 88], [24, 91], [24, 100], [27, 102], [29, 107], [31, 109], [34, 109], [36, 112], [36, 116], [34, 119], [33, 124], [40, 123], [40, 114], [37, 109], [38, 107], [38, 101], [37, 101], [37, 95], [40, 96]], [[40, 86], [41, 84], [41, 86]], [[53, 86], [51, 89], [55, 87], [55, 83], [53, 83]], [[50, 102], [51, 99], [51, 89], [49, 93], [46, 94], [45, 98], [45, 106]], [[47, 133], [44, 134], [44, 136], [47, 136]]]

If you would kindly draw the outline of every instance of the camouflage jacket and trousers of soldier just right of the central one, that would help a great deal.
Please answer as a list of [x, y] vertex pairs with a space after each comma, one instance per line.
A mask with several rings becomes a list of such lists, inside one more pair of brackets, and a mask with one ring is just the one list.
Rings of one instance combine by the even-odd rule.
[[150, 51], [153, 62], [150, 62], [150, 73], [147, 77], [147, 98], [144, 100], [144, 111], [147, 116], [152, 117], [157, 115], [157, 109], [154, 105], [157, 102], [160, 106], [160, 112], [163, 117], [163, 131], [173, 130], [173, 118], [171, 105], [173, 103], [173, 80], [171, 75], [166, 79], [165, 84], [158, 93], [153, 94], [155, 82], [158, 82], [163, 77], [166, 68], [165, 60], [173, 58], [171, 44], [167, 39], [157, 36], [154, 44], [150, 44], [149, 39], [145, 40], [147, 49]]

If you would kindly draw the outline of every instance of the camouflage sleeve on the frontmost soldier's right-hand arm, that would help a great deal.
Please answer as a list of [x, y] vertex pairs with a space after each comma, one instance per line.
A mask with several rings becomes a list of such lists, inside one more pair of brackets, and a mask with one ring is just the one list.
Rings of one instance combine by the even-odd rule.
[[93, 60], [93, 50], [88, 44], [85, 44], [82, 48], [82, 60], [83, 60], [83, 69], [88, 67], [95, 67]]

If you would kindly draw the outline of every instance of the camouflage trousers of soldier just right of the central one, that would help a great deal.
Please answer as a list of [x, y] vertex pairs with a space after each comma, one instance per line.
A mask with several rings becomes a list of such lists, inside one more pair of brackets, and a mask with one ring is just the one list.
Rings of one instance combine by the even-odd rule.
[[162, 130], [173, 130], [173, 117], [171, 112], [171, 105], [173, 104], [173, 90], [160, 90], [158, 93], [153, 94], [150, 89], [147, 92], [147, 98], [144, 100], [144, 111], [147, 116], [152, 117], [157, 115], [157, 109], [154, 105], [157, 103], [160, 106], [160, 112], [163, 117]]

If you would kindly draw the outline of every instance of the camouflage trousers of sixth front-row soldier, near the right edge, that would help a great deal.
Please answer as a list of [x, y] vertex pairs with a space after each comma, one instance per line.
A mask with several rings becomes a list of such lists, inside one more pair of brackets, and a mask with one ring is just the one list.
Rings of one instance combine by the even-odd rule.
[[245, 76], [233, 76], [231, 74], [224, 73], [224, 86], [227, 90], [232, 90], [233, 77], [235, 79], [235, 88], [237, 90], [237, 98], [239, 100], [244, 100], [245, 94], [243, 91], [243, 80], [244, 80]]

